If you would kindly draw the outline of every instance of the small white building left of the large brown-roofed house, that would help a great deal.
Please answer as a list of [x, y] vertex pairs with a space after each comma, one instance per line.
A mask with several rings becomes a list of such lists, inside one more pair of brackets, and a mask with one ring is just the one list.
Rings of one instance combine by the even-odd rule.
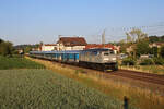
[[43, 44], [40, 46], [40, 51], [52, 51], [52, 50], [57, 50], [56, 44]]

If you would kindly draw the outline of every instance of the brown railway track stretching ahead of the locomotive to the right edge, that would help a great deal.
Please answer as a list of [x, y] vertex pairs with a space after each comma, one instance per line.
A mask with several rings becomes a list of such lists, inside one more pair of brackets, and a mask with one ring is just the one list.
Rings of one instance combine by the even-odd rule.
[[139, 81], [143, 81], [143, 82], [164, 85], [164, 76], [163, 75], [136, 72], [136, 71], [127, 71], [127, 70], [118, 70], [115, 72], [110, 72], [110, 74], [122, 76], [122, 77], [129, 77], [132, 80], [139, 80]]

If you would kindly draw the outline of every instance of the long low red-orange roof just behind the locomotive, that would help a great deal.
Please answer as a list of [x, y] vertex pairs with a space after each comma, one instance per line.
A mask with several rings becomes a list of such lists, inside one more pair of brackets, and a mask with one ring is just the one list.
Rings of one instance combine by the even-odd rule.
[[110, 44], [105, 44], [105, 45], [102, 45], [102, 44], [87, 44], [85, 46], [85, 49], [92, 49], [92, 48], [110, 48], [110, 49], [115, 49], [115, 47]]

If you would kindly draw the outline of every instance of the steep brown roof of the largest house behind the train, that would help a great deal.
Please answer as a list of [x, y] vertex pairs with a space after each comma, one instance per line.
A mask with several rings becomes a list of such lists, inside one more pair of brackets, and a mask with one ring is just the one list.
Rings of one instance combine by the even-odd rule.
[[87, 43], [83, 37], [60, 37], [57, 44], [62, 43], [65, 46], [86, 46]]

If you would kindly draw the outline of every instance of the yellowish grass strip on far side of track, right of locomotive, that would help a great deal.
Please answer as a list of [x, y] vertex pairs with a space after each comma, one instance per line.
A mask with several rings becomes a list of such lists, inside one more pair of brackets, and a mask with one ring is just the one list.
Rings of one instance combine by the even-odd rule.
[[131, 65], [131, 66], [120, 65], [119, 68], [122, 70], [132, 70], [132, 71], [164, 75], [164, 65]]

